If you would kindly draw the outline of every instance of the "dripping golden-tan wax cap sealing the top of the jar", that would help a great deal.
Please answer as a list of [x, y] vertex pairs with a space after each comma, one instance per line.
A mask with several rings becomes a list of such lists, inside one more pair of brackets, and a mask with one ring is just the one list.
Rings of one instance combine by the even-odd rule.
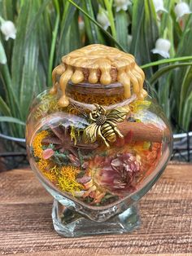
[[109, 85], [120, 82], [124, 86], [125, 98], [131, 97], [131, 91], [137, 98], [146, 96], [146, 90], [142, 88], [145, 75], [133, 55], [99, 44], [85, 46], [63, 56], [62, 63], [53, 70], [52, 79], [50, 94], [55, 94], [59, 87], [63, 92], [59, 104], [63, 107], [69, 103], [65, 89], [70, 80], [74, 84], [89, 82], [93, 86], [96, 83]]

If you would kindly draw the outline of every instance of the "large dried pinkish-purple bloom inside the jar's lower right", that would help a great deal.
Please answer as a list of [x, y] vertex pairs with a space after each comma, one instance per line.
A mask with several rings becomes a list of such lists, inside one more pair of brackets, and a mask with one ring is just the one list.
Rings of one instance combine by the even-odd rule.
[[115, 157], [100, 157], [98, 166], [94, 168], [98, 186], [113, 194], [123, 195], [134, 190], [133, 181], [140, 170], [140, 161], [131, 153], [122, 153]]

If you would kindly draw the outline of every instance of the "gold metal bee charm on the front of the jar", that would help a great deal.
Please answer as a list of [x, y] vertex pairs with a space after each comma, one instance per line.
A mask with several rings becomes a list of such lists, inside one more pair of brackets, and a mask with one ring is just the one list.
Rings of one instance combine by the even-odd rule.
[[94, 122], [85, 128], [83, 140], [85, 143], [94, 143], [96, 139], [100, 138], [109, 148], [109, 142], [115, 142], [116, 135], [119, 135], [120, 138], [124, 137], [117, 129], [116, 123], [124, 121], [129, 113], [129, 108], [120, 107], [107, 111], [98, 104], [94, 104], [94, 106], [96, 109], [89, 113], [90, 120]]

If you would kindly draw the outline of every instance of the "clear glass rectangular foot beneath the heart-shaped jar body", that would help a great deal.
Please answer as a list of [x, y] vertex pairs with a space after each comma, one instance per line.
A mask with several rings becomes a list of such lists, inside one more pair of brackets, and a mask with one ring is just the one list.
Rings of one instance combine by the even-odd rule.
[[94, 222], [85, 216], [69, 210], [54, 201], [52, 218], [55, 231], [61, 236], [94, 236], [101, 234], [132, 232], [140, 225], [137, 205], [132, 205], [122, 214], [116, 215], [105, 222]]

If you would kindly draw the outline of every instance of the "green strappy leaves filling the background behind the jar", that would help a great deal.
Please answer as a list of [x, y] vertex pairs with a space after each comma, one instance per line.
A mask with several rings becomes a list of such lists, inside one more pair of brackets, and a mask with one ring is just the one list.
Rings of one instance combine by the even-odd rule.
[[[118, 8], [115, 0], [0, 0], [0, 17], [16, 28], [14, 40], [0, 33], [1, 133], [24, 138], [29, 105], [51, 86], [62, 55], [92, 43], [135, 55], [174, 132], [191, 130], [192, 15], [178, 20], [176, 0], [122, 2]], [[192, 1], [183, 2], [192, 10]], [[152, 52], [158, 38], [168, 40], [168, 59]]]

